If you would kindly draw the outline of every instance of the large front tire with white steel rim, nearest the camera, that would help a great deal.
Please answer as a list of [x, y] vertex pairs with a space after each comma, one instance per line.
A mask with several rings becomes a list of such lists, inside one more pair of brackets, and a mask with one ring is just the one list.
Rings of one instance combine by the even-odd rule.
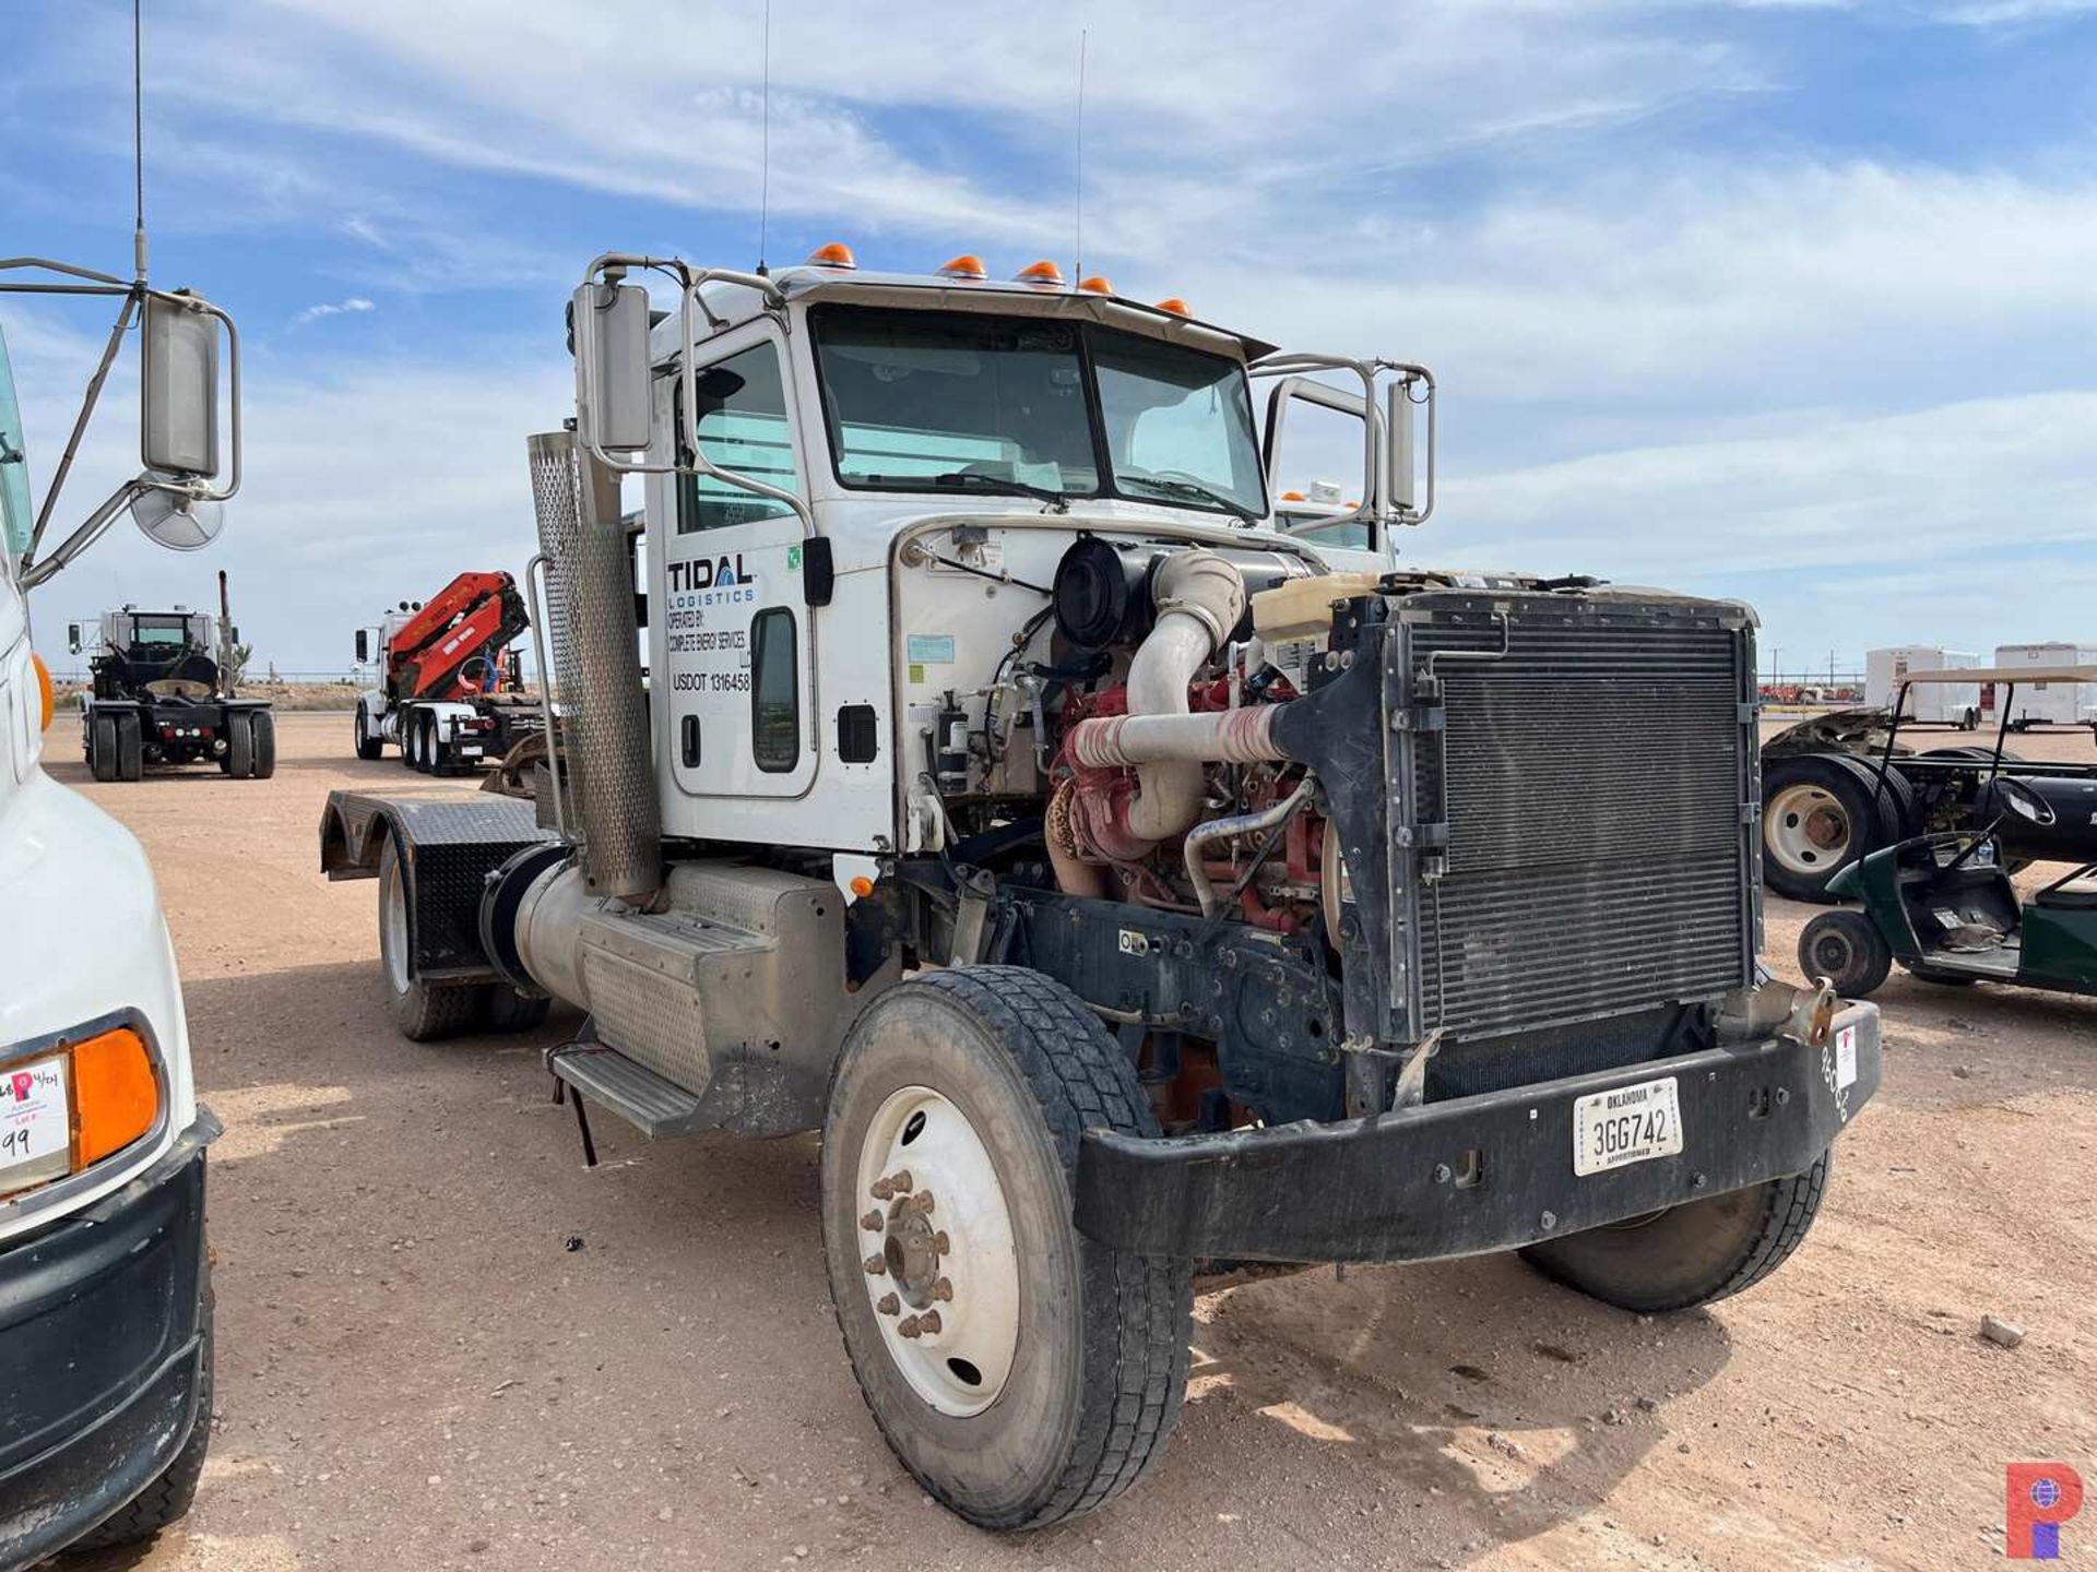
[[1158, 1134], [1097, 1017], [1019, 966], [889, 989], [830, 1084], [824, 1264], [851, 1371], [904, 1467], [981, 1528], [1105, 1505], [1185, 1398], [1191, 1264], [1072, 1224], [1093, 1126]]

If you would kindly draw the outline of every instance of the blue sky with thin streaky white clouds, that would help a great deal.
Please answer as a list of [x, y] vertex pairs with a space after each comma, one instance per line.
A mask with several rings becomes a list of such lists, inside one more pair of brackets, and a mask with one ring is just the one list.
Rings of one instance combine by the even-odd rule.
[[[247, 486], [212, 553], [111, 534], [44, 643], [224, 566], [336, 669], [518, 568], [581, 266], [757, 260], [761, 17], [147, 0], [153, 277], [241, 321]], [[0, 249], [128, 268], [128, 23], [8, 0]], [[1409, 558], [1738, 595], [1766, 664], [2097, 637], [2097, 0], [774, 0], [770, 260], [1069, 262], [1080, 27], [1086, 270], [1441, 375]], [[105, 319], [0, 312], [46, 480]]]

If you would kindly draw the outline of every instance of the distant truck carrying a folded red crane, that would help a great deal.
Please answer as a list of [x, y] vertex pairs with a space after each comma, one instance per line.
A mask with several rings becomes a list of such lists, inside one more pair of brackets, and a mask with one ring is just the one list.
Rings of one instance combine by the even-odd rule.
[[518, 650], [528, 627], [507, 572], [461, 572], [428, 602], [401, 602], [375, 629], [356, 629], [356, 662], [377, 685], [356, 696], [356, 757], [386, 744], [432, 776], [478, 769], [543, 729], [522, 694]]

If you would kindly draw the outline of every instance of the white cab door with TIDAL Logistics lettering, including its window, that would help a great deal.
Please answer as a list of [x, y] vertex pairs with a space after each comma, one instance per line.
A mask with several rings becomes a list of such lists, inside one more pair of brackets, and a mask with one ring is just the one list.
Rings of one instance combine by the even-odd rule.
[[[791, 384], [770, 323], [707, 346], [698, 444], [713, 463], [805, 490]], [[682, 390], [677, 394], [682, 396]], [[694, 796], [801, 796], [816, 778], [816, 662], [801, 522], [711, 476], [671, 482], [663, 606], [665, 746]]]

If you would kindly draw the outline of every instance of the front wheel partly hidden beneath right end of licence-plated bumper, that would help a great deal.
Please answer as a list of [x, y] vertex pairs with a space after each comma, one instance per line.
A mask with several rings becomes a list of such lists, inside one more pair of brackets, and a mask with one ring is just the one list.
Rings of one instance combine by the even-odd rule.
[[1829, 1155], [1791, 1178], [1548, 1239], [1520, 1256], [1543, 1276], [1619, 1310], [1659, 1314], [1726, 1300], [1806, 1241], [1826, 1195]]

